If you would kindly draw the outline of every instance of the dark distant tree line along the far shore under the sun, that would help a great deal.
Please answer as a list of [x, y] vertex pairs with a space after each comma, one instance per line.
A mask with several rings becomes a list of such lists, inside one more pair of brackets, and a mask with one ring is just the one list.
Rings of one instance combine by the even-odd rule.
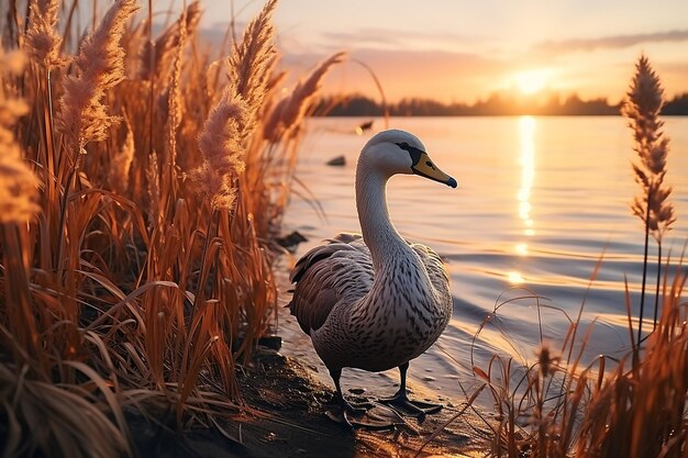
[[[619, 104], [607, 99], [581, 100], [578, 96], [562, 98], [553, 93], [542, 97], [515, 97], [493, 93], [474, 104], [442, 103], [431, 99], [403, 99], [387, 105], [392, 116], [481, 116], [481, 115], [615, 115]], [[324, 98], [315, 113], [329, 116], [381, 116], [384, 107], [375, 100], [360, 96]], [[676, 96], [662, 110], [664, 115], [688, 115], [688, 92]]]

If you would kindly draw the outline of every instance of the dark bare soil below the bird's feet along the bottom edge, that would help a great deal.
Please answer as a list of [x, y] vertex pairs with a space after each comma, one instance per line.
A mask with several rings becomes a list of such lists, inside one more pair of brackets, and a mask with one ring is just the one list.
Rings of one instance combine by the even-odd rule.
[[[332, 398], [331, 389], [312, 378], [298, 361], [275, 350], [258, 350], [252, 365], [243, 368], [238, 377], [246, 412], [218, 421], [233, 439], [218, 428], [179, 434], [133, 420], [131, 428], [138, 455], [170, 458], [413, 457], [429, 436], [458, 411], [448, 404], [440, 413], [428, 415], [422, 423], [409, 417], [407, 424], [393, 431], [352, 429], [324, 414], [325, 404]], [[424, 446], [420, 456], [471, 456], [485, 451], [485, 440], [478, 438], [478, 423], [467, 416], [462, 415], [444, 427]]]

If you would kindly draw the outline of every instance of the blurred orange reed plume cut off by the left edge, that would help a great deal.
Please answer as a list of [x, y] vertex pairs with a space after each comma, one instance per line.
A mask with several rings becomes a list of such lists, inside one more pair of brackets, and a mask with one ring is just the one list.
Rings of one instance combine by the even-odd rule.
[[38, 211], [37, 185], [33, 171], [24, 164], [12, 129], [16, 120], [27, 112], [18, 98], [9, 97], [3, 74], [18, 74], [23, 67], [20, 52], [4, 55], [0, 49], [0, 224], [21, 224]]

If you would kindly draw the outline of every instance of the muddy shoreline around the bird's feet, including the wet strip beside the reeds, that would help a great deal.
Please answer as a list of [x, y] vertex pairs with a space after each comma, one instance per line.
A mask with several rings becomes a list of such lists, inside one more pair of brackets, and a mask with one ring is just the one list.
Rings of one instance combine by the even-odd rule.
[[[286, 269], [275, 267], [281, 291], [287, 291]], [[310, 338], [298, 328], [296, 319], [284, 308], [280, 293], [275, 335], [278, 349], [258, 345], [247, 366], [237, 367], [244, 412], [217, 415], [217, 426], [193, 426], [178, 432], [135, 416], [130, 418], [136, 454], [163, 458], [391, 458], [391, 457], [477, 457], [489, 449], [489, 429], [469, 409], [452, 421], [464, 400], [453, 399], [410, 381], [413, 398], [445, 406], [422, 423], [404, 417], [407, 424], [392, 431], [348, 428], [330, 420], [326, 403], [333, 387]], [[347, 399], [365, 402], [389, 395], [398, 388], [398, 373], [389, 370], [362, 373], [345, 371]], [[376, 407], [377, 409], [377, 407]], [[382, 407], [384, 409], [384, 407]], [[376, 411], [377, 413], [377, 411]], [[164, 416], [163, 416], [164, 418]], [[159, 421], [158, 417], [156, 420]], [[439, 428], [443, 431], [428, 444]], [[222, 429], [222, 432], [220, 431]], [[223, 434], [224, 433], [224, 434]], [[419, 454], [419, 450], [421, 450]]]

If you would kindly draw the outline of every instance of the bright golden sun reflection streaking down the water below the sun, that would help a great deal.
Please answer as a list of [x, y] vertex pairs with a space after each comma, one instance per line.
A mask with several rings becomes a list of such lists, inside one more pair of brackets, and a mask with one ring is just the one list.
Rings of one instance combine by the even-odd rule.
[[[517, 193], [517, 201], [519, 204], [519, 219], [523, 222], [523, 236], [525, 237], [525, 239], [515, 244], [515, 253], [519, 256], [529, 255], [528, 237], [535, 235], [535, 224], [531, 216], [531, 191], [535, 179], [535, 129], [536, 122], [533, 116], [521, 116], [519, 119], [521, 187]], [[508, 279], [512, 284], [524, 281], [518, 271], [509, 272]]]

